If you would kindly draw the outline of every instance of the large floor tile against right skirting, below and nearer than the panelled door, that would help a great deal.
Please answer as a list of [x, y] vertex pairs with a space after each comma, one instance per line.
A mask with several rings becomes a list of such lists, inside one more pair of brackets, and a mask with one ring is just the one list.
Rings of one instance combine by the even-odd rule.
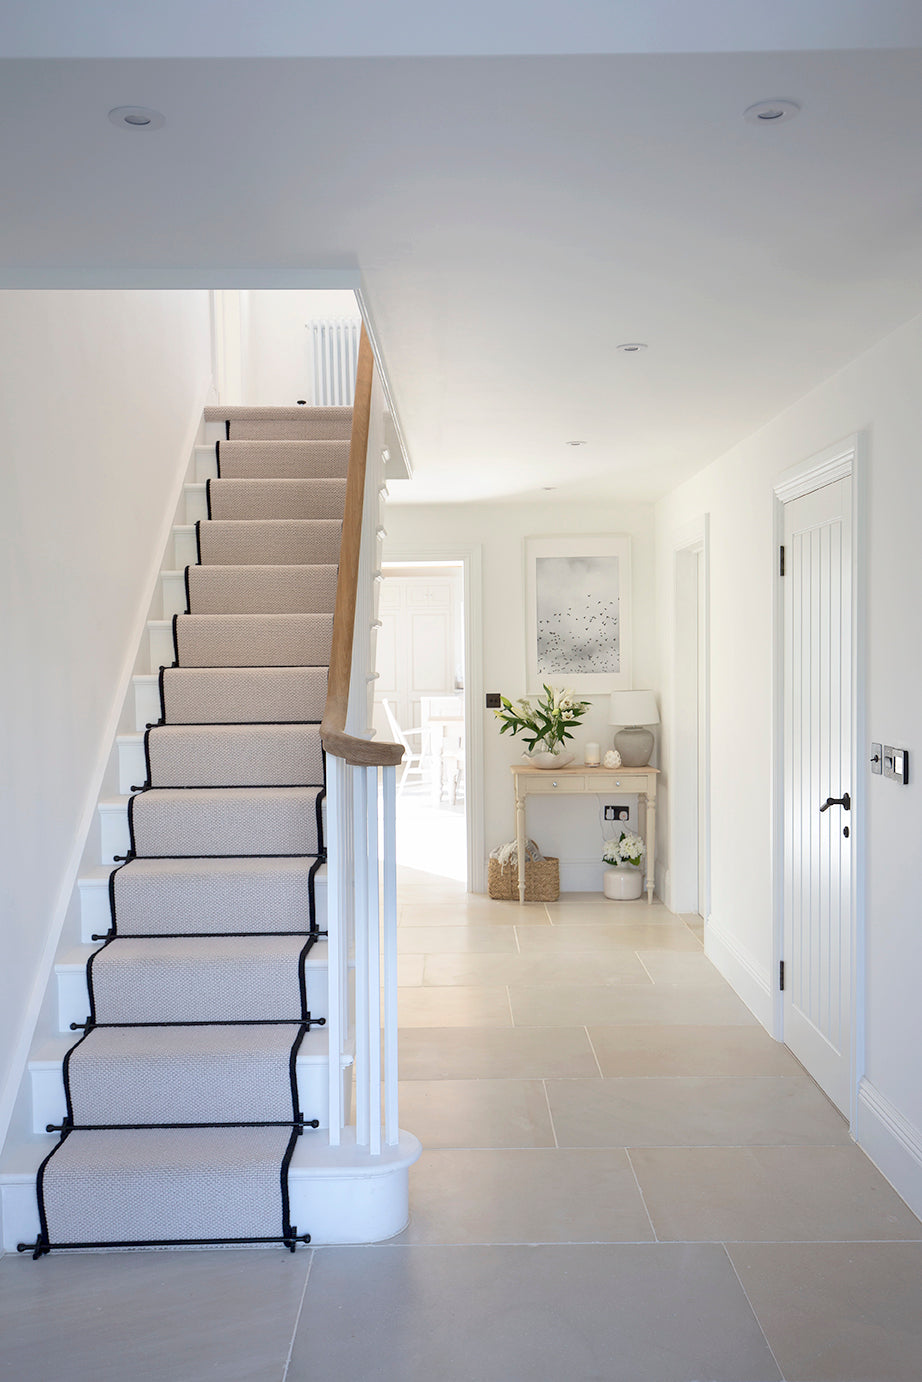
[[654, 1147], [630, 1153], [657, 1237], [723, 1242], [922, 1240], [856, 1147]]

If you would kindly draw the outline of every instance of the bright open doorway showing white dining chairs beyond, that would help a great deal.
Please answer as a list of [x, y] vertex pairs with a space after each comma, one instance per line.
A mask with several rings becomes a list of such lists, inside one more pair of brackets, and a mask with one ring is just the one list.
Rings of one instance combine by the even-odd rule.
[[382, 571], [375, 730], [405, 750], [397, 861], [467, 886], [463, 562], [386, 562]]

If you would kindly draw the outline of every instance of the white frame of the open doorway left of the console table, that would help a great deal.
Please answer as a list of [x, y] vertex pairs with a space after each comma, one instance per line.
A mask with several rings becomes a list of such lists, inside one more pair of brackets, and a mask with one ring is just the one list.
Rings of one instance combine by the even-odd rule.
[[467, 822], [467, 891], [487, 891], [484, 844], [484, 607], [482, 547], [444, 542], [386, 546], [384, 560], [460, 561], [464, 579], [464, 817]]

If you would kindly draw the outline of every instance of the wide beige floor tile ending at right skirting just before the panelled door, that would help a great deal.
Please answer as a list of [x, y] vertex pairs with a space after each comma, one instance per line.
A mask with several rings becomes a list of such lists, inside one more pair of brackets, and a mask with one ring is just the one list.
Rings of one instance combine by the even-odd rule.
[[[448, 990], [446, 990], [448, 992]], [[517, 1027], [579, 1027], [662, 1023], [677, 1027], [752, 1027], [756, 1019], [730, 988], [681, 990], [666, 984], [561, 985], [553, 1003], [546, 988], [511, 988]]]

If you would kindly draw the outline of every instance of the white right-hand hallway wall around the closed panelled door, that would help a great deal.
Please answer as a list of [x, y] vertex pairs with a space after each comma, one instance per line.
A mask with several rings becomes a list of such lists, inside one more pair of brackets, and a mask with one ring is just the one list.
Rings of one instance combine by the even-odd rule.
[[[852, 433], [868, 455], [867, 726], [922, 750], [922, 319], [722, 456], [657, 507], [658, 627], [670, 680], [672, 533], [711, 515], [712, 918], [735, 958], [771, 962], [771, 484]], [[666, 745], [666, 781], [670, 766]], [[915, 760], [919, 761], [918, 759]], [[865, 773], [867, 764], [856, 764]], [[868, 778], [867, 1081], [858, 1136], [922, 1209], [922, 795]], [[767, 1007], [759, 1012], [767, 1020]]]

